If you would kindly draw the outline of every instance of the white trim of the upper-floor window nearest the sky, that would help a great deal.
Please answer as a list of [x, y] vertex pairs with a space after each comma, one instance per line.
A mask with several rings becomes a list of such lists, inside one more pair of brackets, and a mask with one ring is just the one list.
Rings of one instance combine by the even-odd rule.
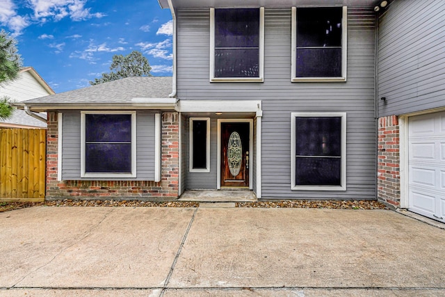
[[259, 8], [259, 77], [215, 77], [215, 8], [210, 8], [210, 81], [263, 82], [264, 81], [264, 7]]

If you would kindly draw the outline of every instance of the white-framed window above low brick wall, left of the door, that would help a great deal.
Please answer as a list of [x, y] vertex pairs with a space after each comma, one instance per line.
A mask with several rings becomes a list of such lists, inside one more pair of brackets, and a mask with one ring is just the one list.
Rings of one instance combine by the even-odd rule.
[[81, 177], [136, 177], [136, 112], [81, 113]]

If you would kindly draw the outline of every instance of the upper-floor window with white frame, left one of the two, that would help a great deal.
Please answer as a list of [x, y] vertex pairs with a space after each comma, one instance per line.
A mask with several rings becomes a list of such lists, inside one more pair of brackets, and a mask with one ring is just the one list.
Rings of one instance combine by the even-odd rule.
[[263, 81], [264, 8], [211, 8], [210, 81]]

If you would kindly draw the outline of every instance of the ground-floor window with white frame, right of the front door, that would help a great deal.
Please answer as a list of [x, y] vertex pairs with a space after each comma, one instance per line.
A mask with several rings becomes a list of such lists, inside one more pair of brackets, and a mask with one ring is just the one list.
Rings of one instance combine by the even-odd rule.
[[291, 113], [293, 190], [346, 191], [346, 113]]

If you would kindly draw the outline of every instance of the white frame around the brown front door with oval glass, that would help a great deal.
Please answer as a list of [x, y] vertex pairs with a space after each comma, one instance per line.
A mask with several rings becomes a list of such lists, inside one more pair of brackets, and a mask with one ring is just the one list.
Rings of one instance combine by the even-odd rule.
[[[252, 158], [252, 152], [253, 152], [253, 119], [218, 119], [218, 136], [216, 141], [216, 147], [217, 147], [217, 175], [216, 175], [216, 188], [218, 190], [221, 189], [221, 123], [222, 122], [248, 122], [249, 123], [249, 189], [253, 190], [253, 183], [252, 183], [252, 173], [253, 173], [253, 158]], [[257, 177], [258, 178], [258, 177]]]

